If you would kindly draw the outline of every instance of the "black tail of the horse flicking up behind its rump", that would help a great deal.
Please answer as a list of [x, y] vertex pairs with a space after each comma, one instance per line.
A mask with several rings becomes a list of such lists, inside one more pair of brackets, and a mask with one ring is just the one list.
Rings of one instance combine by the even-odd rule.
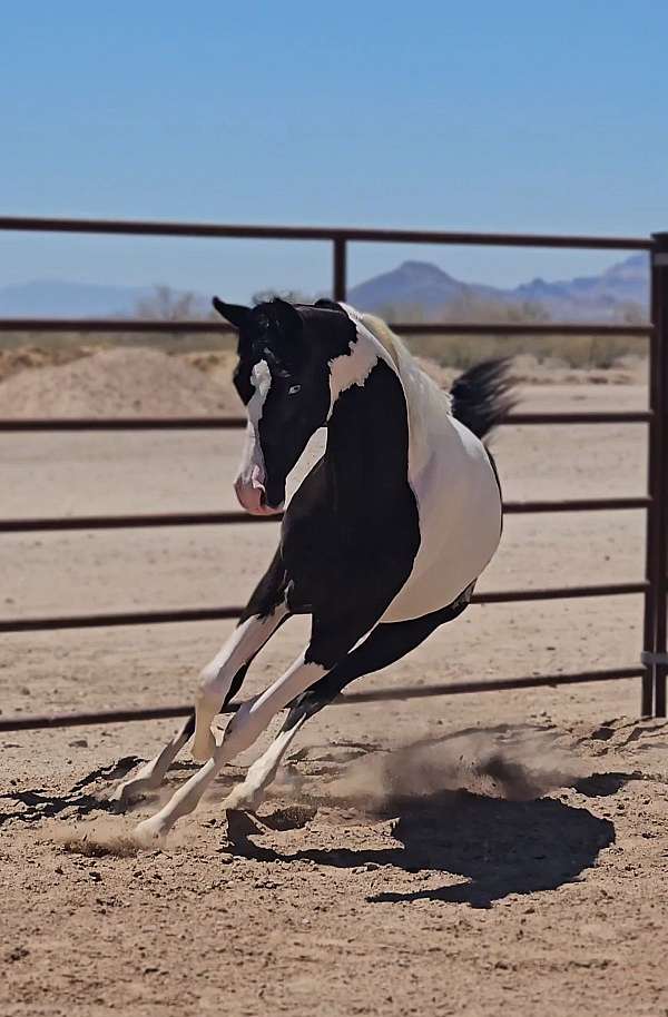
[[503, 423], [517, 404], [510, 357], [483, 361], [460, 375], [450, 394], [452, 415], [479, 438]]

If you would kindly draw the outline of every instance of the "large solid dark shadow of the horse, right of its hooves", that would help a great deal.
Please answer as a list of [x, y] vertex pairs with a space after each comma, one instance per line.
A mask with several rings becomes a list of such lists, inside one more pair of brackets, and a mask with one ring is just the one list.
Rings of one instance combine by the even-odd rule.
[[[401, 847], [374, 850], [306, 849], [282, 853], [250, 838], [262, 833], [244, 813], [228, 813], [228, 838], [236, 855], [284, 862], [353, 868], [369, 863], [407, 872], [448, 872], [466, 882], [407, 891], [384, 890], [373, 902], [441, 900], [485, 908], [510, 893], [553, 890], [592, 866], [615, 841], [615, 827], [588, 809], [551, 798], [504, 801], [468, 792], [440, 791], [419, 801], [393, 803], [393, 836]], [[272, 825], [272, 817], [266, 818]], [[266, 832], [266, 830], [264, 831]]]

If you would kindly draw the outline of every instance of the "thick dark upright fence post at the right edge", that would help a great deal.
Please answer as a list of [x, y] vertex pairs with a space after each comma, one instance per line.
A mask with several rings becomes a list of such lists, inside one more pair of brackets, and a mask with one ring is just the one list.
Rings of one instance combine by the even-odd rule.
[[642, 713], [666, 715], [666, 613], [668, 571], [668, 233], [655, 234], [651, 249], [651, 319], [649, 349], [647, 571], [645, 602]]

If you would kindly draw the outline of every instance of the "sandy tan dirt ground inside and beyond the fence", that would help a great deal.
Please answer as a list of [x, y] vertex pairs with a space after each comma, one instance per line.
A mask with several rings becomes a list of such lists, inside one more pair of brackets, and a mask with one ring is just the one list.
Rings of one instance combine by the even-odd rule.
[[[523, 408], [633, 408], [551, 385]], [[644, 491], [638, 426], [505, 428], [508, 498]], [[1, 515], [232, 507], [237, 434], [0, 437]], [[511, 516], [481, 589], [637, 580], [642, 515]], [[2, 537], [4, 618], [239, 603], [274, 525]], [[232, 623], [4, 636], [4, 714], [187, 700]], [[291, 622], [252, 670], [301, 649]], [[636, 665], [636, 596], [471, 608], [367, 688]], [[229, 767], [160, 850], [105, 796], [173, 722], [4, 733], [0, 1013], [666, 1015], [668, 727], [635, 681], [340, 705], [259, 816]], [[266, 746], [263, 738], [261, 748]], [[392, 751], [391, 751], [392, 750]], [[173, 769], [169, 789], [194, 764]]]

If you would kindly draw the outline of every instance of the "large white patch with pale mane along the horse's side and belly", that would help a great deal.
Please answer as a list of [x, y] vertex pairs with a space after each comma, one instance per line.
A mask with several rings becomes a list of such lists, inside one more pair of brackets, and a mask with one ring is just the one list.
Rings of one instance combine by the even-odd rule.
[[483, 443], [452, 416], [450, 395], [401, 339], [384, 323], [380, 328], [379, 319], [341, 306], [355, 323], [366, 362], [375, 348], [376, 359], [396, 374], [406, 401], [407, 481], [418, 503], [420, 547], [381, 621], [409, 621], [451, 604], [489, 564], [501, 539], [499, 485]]

